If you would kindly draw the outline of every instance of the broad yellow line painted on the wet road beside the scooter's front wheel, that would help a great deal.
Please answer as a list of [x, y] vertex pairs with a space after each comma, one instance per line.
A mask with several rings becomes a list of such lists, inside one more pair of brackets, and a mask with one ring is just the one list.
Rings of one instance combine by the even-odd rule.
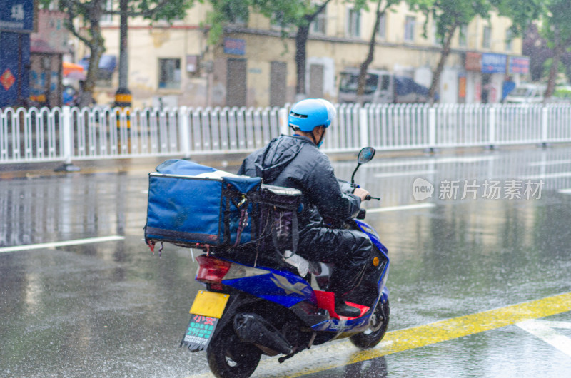
[[[348, 339], [345, 339], [303, 351], [281, 365], [278, 364], [276, 358], [266, 359], [261, 361], [254, 375], [300, 377], [388, 354], [458, 339], [470, 334], [495, 330], [507, 325], [514, 325], [523, 320], [548, 317], [570, 311], [571, 292], [567, 292], [540, 300], [477, 312], [472, 315], [440, 320], [429, 325], [387, 332], [383, 341], [374, 349], [358, 350]], [[311, 362], [313, 367], [303, 366], [306, 362]], [[206, 373], [200, 377], [213, 376]]]

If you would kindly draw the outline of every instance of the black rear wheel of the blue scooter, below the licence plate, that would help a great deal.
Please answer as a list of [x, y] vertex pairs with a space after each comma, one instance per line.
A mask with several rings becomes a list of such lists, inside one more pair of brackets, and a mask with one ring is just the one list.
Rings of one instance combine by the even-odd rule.
[[206, 349], [208, 366], [216, 377], [250, 377], [258, 362], [261, 351], [253, 344], [241, 342], [232, 325], [211, 340]]

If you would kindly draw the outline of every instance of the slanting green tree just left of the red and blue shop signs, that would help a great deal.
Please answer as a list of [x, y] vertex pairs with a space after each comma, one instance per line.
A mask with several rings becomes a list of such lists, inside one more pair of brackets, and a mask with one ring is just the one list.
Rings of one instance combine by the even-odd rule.
[[[433, 71], [433, 80], [430, 83], [430, 101], [434, 96], [440, 75], [444, 69], [446, 59], [450, 55], [452, 39], [456, 31], [463, 25], [470, 24], [476, 16], [487, 18], [492, 10], [490, 0], [407, 0], [410, 7], [422, 11], [425, 16], [424, 33], [427, 36], [428, 24], [431, 20], [436, 24], [436, 35], [442, 44], [438, 65]], [[519, 1], [519, 0], [514, 0]]]

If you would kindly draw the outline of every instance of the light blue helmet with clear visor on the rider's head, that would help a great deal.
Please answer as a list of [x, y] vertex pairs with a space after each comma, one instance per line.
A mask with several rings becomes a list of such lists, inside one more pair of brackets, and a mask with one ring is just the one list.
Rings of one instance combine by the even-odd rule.
[[323, 98], [308, 98], [296, 103], [290, 111], [290, 128], [309, 133], [318, 126], [329, 127], [335, 119], [335, 107]]

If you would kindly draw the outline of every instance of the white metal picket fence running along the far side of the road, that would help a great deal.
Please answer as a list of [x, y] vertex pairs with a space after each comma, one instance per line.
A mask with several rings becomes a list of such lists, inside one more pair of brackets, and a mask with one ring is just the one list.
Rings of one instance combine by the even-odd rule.
[[[288, 133], [288, 108], [6, 108], [0, 163], [247, 153]], [[571, 142], [571, 105], [338, 105], [325, 152]]]

